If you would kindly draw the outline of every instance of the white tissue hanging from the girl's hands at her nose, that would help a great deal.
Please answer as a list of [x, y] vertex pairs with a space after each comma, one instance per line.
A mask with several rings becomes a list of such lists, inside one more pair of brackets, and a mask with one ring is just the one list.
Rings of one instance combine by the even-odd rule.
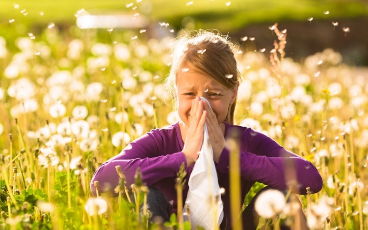
[[[201, 97], [201, 100], [210, 104], [203, 97]], [[206, 230], [214, 230], [216, 223], [217, 226], [221, 224], [224, 213], [206, 124], [202, 149], [194, 164], [188, 185], [189, 191], [185, 204], [189, 205], [192, 229], [197, 229], [197, 226], [201, 226]], [[188, 220], [187, 215], [184, 216], [184, 220]]]

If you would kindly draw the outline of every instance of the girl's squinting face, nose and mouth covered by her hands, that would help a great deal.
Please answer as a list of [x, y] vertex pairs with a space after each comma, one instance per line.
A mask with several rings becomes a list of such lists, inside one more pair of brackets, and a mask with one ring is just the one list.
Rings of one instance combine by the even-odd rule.
[[237, 86], [228, 89], [213, 78], [208, 77], [191, 65], [189, 70], [181, 72], [176, 82], [176, 100], [180, 119], [186, 126], [190, 126], [190, 110], [195, 97], [206, 98], [221, 124], [228, 113], [229, 105], [233, 104], [237, 96]]

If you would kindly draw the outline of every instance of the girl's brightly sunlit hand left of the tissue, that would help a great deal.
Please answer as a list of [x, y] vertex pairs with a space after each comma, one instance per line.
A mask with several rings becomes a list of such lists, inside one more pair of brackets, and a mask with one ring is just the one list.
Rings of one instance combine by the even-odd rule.
[[192, 102], [190, 125], [186, 131], [185, 144], [182, 151], [185, 155], [187, 166], [190, 166], [198, 159], [198, 153], [202, 148], [207, 117], [207, 111], [203, 109], [203, 104], [199, 97], [196, 97]]

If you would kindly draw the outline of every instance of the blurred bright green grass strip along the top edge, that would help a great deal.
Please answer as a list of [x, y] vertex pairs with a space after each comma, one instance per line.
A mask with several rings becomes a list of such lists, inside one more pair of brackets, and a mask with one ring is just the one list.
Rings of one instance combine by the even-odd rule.
[[[368, 15], [368, 5], [362, 0], [0, 0], [0, 20], [6, 24], [9, 19], [21, 20], [26, 25], [73, 24], [74, 14], [81, 8], [96, 14], [140, 13], [156, 21], [169, 22], [179, 28], [182, 19], [192, 17], [196, 27], [236, 29], [250, 23], [276, 22], [281, 20], [337, 19]], [[227, 2], [231, 2], [227, 6]], [[19, 4], [15, 9], [14, 4]], [[127, 4], [133, 3], [132, 7]], [[27, 15], [20, 13], [26, 9]], [[323, 12], [329, 11], [325, 15]], [[43, 12], [43, 16], [40, 15]]]

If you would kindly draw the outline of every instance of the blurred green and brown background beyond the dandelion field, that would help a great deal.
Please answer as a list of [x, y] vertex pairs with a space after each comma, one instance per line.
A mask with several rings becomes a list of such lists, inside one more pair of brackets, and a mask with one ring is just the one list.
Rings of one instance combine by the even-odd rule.
[[[0, 0], [0, 35], [37, 34], [51, 22], [67, 30], [80, 9], [147, 17], [145, 36], [152, 37], [170, 35], [169, 29], [215, 28], [249, 50], [272, 47], [268, 26], [277, 22], [288, 29], [286, 51], [293, 58], [330, 47], [348, 64], [368, 65], [367, 0]], [[163, 22], [169, 24], [165, 30], [159, 26]], [[245, 36], [255, 40], [242, 42]]]

